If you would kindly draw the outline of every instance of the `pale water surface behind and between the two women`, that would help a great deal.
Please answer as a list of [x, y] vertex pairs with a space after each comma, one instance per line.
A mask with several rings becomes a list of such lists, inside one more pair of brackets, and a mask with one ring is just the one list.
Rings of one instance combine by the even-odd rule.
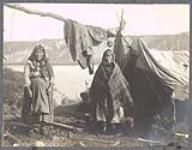
[[[23, 72], [24, 66], [9, 66], [15, 71]], [[88, 69], [82, 70], [80, 66], [53, 66], [55, 72], [55, 87], [68, 98], [80, 97], [80, 93], [86, 90], [92, 82], [93, 75], [89, 75]], [[88, 85], [85, 84], [88, 83]]]

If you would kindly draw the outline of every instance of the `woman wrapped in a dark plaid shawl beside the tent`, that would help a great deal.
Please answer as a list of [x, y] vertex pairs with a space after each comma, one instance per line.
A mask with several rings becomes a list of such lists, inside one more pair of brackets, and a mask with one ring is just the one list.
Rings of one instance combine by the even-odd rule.
[[90, 89], [93, 120], [104, 131], [120, 123], [122, 117], [132, 115], [133, 99], [129, 84], [114, 60], [113, 51], [107, 49]]

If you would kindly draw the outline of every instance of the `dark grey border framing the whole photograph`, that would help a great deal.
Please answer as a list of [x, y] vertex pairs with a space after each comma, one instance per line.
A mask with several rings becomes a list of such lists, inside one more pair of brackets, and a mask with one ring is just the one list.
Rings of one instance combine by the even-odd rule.
[[[0, 149], [2, 150], [83, 150], [83, 149], [93, 149], [93, 150], [99, 150], [99, 149], [106, 149], [102, 147], [11, 147], [11, 146], [3, 146], [3, 5], [4, 3], [122, 3], [122, 4], [189, 4], [190, 5], [190, 76], [189, 76], [189, 105], [188, 105], [188, 117], [189, 117], [189, 145], [188, 149], [192, 149], [192, 0], [0, 0]], [[118, 150], [118, 149], [131, 149], [131, 150], [149, 150], [149, 149], [183, 149], [182, 147], [175, 147], [175, 146], [155, 146], [155, 147], [125, 147], [125, 148], [107, 148], [109, 150]], [[184, 148], [186, 149], [186, 147]]]

